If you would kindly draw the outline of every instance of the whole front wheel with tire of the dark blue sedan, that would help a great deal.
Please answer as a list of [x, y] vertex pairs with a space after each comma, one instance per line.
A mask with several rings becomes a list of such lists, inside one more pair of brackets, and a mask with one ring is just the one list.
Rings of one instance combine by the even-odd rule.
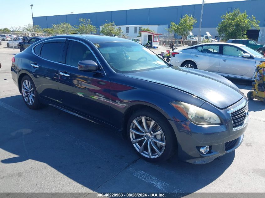
[[176, 136], [167, 119], [154, 110], [131, 115], [127, 135], [136, 153], [146, 161], [169, 159], [176, 150]]

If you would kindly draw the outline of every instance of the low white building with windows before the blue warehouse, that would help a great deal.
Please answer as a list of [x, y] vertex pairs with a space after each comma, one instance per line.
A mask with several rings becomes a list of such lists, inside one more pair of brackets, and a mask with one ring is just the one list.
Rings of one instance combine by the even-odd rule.
[[[99, 26], [99, 31], [102, 27]], [[119, 25], [116, 27], [120, 28], [128, 37], [137, 37], [142, 28], [150, 28], [156, 33], [167, 33], [168, 25]]]

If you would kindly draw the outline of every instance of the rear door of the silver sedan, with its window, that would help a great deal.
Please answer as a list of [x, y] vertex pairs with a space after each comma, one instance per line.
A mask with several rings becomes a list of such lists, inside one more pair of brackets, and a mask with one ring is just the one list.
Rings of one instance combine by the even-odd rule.
[[193, 49], [192, 57], [198, 69], [218, 73], [220, 63], [220, 44], [200, 45]]

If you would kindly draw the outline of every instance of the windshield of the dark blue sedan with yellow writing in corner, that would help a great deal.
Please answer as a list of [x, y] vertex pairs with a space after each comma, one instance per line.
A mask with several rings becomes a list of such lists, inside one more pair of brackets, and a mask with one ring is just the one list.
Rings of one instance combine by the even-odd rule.
[[132, 73], [169, 67], [150, 49], [136, 42], [94, 43], [109, 65], [118, 73]]

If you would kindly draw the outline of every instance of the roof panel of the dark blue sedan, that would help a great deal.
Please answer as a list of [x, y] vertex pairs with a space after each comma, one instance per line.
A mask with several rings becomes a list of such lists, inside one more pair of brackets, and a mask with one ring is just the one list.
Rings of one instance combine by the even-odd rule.
[[[41, 37], [43, 38], [43, 37]], [[133, 42], [135, 41], [119, 38], [114, 36], [104, 36], [104, 35], [92, 35], [92, 34], [68, 34], [68, 35], [57, 35], [52, 37], [46, 37], [45, 40], [52, 39], [52, 38], [84, 38], [92, 43], [106, 43], [106, 42]]]

